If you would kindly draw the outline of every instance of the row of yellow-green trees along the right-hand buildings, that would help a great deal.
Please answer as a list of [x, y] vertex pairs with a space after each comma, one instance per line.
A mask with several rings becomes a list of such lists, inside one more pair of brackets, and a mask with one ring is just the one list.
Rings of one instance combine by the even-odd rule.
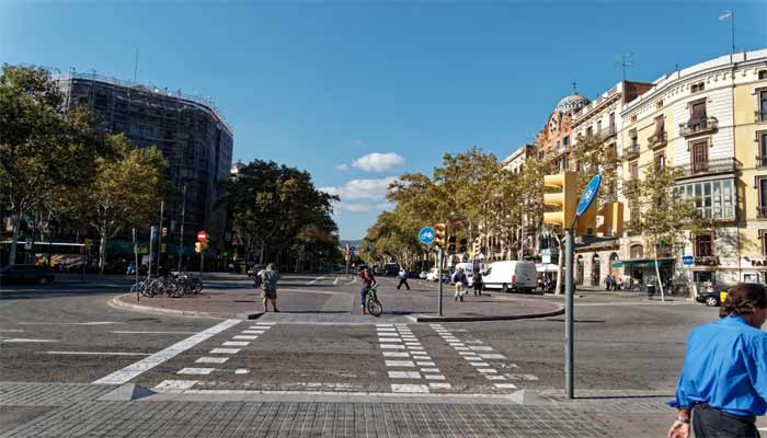
[[[577, 139], [569, 158], [570, 170], [579, 173], [579, 193], [599, 173], [603, 188], [596, 203], [617, 200], [622, 172], [615, 148], [606, 147], [599, 136], [588, 135]], [[388, 199], [394, 208], [380, 214], [368, 229], [362, 246], [369, 244], [373, 250], [365, 256], [374, 262], [396, 260], [405, 264], [428, 260], [433, 249], [419, 242], [417, 232], [434, 222], [447, 222], [449, 233], [458, 239], [494, 237], [505, 243], [510, 260], [522, 260], [530, 253], [541, 234], [558, 242], [562, 254], [562, 230], [542, 223], [543, 175], [558, 172], [551, 159], [537, 155], [528, 157], [518, 172], [512, 172], [495, 155], [477, 147], [456, 155], [447, 153], [432, 176], [404, 174], [391, 184]], [[644, 234], [650, 247], [678, 246], [687, 232], [711, 227], [699, 215], [695, 199], [673, 189], [678, 177], [677, 169], [648, 165], [641, 181], [623, 184], [625, 198], [633, 212], [627, 229]], [[560, 273], [563, 260], [559, 257]], [[657, 272], [659, 281], [660, 277]]]

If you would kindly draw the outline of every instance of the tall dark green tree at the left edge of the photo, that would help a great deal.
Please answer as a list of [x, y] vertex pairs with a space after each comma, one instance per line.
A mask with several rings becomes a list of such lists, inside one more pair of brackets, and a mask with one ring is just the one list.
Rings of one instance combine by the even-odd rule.
[[82, 108], [65, 111], [47, 70], [4, 65], [0, 76], [0, 193], [11, 212], [10, 263], [20, 223], [53, 206], [51, 192], [88, 184], [100, 153], [94, 119]]

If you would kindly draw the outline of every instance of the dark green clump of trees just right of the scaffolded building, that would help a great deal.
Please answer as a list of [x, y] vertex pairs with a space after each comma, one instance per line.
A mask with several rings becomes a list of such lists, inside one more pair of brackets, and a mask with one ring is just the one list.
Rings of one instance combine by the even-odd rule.
[[221, 206], [232, 217], [234, 245], [249, 262], [276, 262], [295, 270], [340, 263], [332, 203], [309, 173], [255, 160], [224, 187]]

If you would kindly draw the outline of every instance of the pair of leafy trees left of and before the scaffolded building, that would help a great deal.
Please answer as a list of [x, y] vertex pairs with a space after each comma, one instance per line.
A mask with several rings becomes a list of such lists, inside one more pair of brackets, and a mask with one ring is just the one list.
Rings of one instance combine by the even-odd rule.
[[169, 195], [162, 153], [104, 135], [96, 123], [87, 108], [65, 105], [46, 69], [2, 67], [0, 221], [12, 229], [10, 264], [16, 262], [22, 222], [32, 218], [42, 235], [93, 230], [103, 272], [106, 240], [148, 227]]

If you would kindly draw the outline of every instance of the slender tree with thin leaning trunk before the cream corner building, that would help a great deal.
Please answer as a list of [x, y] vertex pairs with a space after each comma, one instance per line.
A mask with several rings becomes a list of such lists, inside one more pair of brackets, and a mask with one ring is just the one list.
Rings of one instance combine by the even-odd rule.
[[675, 247], [685, 233], [696, 234], [711, 229], [712, 220], [705, 218], [696, 207], [696, 199], [688, 198], [675, 187], [682, 175], [678, 168], [649, 165], [644, 177], [628, 191], [631, 220], [628, 229], [644, 234], [653, 249], [657, 287], [663, 300], [663, 281], [659, 268], [659, 247]]

